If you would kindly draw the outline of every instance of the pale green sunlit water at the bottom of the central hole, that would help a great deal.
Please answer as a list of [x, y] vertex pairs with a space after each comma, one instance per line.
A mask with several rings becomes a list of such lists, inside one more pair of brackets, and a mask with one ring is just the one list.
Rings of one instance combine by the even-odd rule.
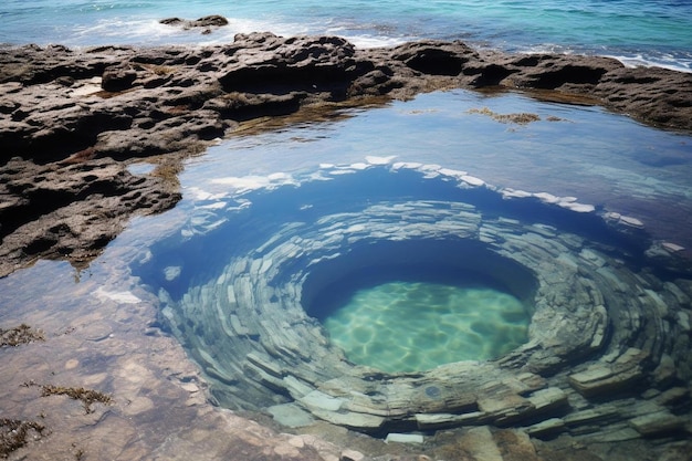
[[389, 282], [358, 290], [323, 324], [352, 362], [395, 373], [500, 357], [526, 342], [528, 315], [497, 290]]

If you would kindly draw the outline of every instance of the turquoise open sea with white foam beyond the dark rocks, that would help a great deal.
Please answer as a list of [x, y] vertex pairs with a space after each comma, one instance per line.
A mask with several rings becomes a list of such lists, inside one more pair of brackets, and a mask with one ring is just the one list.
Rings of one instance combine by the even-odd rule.
[[[211, 34], [158, 23], [221, 14]], [[692, 1], [644, 0], [6, 0], [0, 43], [219, 43], [239, 32], [337, 34], [359, 46], [462, 40], [513, 52], [610, 55], [631, 65], [692, 70]]]

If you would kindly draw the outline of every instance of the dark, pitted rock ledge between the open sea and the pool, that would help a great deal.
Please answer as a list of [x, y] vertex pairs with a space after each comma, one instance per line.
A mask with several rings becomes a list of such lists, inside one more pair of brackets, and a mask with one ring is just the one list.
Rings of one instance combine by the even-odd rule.
[[[315, 104], [451, 87], [586, 97], [692, 132], [692, 75], [606, 57], [481, 52], [424, 41], [358, 50], [335, 36], [239, 34], [192, 48], [0, 49], [0, 276], [36, 258], [84, 262], [135, 212], [179, 200], [176, 159], [238, 122]], [[156, 174], [127, 170], [155, 157]]]

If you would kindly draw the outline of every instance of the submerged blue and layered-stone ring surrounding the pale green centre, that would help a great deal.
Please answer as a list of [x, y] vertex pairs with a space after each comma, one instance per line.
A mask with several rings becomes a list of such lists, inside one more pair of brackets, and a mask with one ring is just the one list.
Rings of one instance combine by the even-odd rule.
[[[541, 434], [601, 410], [625, 438], [684, 423], [668, 400], [620, 405], [681, 394], [691, 369], [691, 284], [674, 283], [661, 265], [673, 255], [636, 220], [390, 158], [219, 181], [233, 193], [199, 203], [136, 270], [217, 404], [374, 434], [479, 423]], [[528, 342], [417, 373], [349, 363], [308, 307], [343, 274], [384, 262], [492, 277], [528, 306]]]

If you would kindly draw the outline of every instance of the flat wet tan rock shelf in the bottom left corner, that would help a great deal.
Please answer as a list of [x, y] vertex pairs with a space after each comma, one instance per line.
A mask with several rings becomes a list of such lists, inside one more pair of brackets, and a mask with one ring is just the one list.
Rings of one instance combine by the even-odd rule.
[[[70, 277], [53, 272], [42, 283], [60, 308], [32, 293], [22, 313], [3, 315], [3, 327], [29, 315], [48, 332], [44, 342], [0, 348], [0, 458], [339, 459], [334, 443], [209, 406], [207, 385], [175, 339], [156, 328], [143, 334], [156, 315], [146, 293], [86, 280], [83, 292], [66, 293]], [[71, 390], [103, 392], [107, 404], [86, 407]]]

